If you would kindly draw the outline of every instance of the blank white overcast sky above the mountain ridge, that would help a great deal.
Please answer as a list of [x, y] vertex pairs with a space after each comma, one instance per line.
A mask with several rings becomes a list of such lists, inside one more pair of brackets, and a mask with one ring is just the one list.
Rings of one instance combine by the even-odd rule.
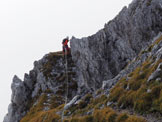
[[66, 36], [96, 33], [132, 0], [1, 0], [0, 122], [11, 99], [11, 82], [33, 62], [61, 50]]

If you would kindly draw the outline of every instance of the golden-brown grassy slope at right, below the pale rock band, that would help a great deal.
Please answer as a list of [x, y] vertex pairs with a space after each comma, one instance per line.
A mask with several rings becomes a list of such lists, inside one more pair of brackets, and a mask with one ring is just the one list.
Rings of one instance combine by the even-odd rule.
[[[159, 37], [145, 52], [150, 52], [162, 40]], [[162, 59], [155, 61], [149, 57], [141, 66], [137, 67], [127, 78], [121, 79], [111, 90], [109, 101], [117, 102], [123, 108], [133, 108], [138, 113], [158, 112], [162, 114], [162, 74], [159, 80], [147, 82], [149, 76], [162, 63]]]

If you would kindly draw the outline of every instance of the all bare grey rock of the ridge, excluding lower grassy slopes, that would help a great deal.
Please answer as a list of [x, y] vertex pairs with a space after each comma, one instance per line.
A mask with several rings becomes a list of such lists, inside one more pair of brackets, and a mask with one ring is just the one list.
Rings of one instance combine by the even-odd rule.
[[[149, 56], [154, 55], [157, 60], [162, 58], [160, 42], [153, 46], [151, 52], [143, 53], [140, 60], [136, 60], [139, 52], [152, 44], [153, 38], [161, 31], [162, 1], [133, 0], [128, 8], [124, 7], [118, 16], [96, 34], [71, 39], [72, 56], [68, 56], [66, 73], [63, 56], [57, 52], [35, 61], [33, 70], [25, 74], [23, 81], [15, 76], [11, 85], [11, 104], [3, 122], [19, 122], [32, 104], [37, 104], [36, 98], [48, 91], [48, 95], [62, 98], [69, 92], [68, 102], [72, 101], [65, 108], [75, 104], [79, 97], [89, 91], [102, 87], [109, 92], [120, 78], [132, 72]], [[159, 70], [161, 72], [161, 65], [148, 82], [159, 77]], [[44, 108], [45, 111], [48, 109]]]

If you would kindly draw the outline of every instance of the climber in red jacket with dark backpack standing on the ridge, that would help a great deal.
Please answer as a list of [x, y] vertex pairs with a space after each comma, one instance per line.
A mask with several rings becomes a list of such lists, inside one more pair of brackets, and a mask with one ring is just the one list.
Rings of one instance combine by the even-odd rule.
[[[69, 42], [69, 37], [66, 37], [65, 39], [63, 39], [62, 41], [62, 48], [63, 48], [63, 55], [68, 55], [70, 52], [69, 46], [68, 46], [68, 42]], [[65, 52], [66, 50], [66, 52]]]

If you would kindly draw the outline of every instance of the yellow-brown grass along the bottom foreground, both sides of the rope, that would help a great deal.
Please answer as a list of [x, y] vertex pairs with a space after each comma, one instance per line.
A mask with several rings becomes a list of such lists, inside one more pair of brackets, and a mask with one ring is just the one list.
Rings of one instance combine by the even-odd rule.
[[[146, 122], [143, 118], [130, 116], [127, 113], [118, 113], [110, 107], [106, 107], [108, 98], [105, 95], [99, 95], [93, 98], [87, 94], [78, 104], [73, 105], [65, 111], [66, 118], [64, 122]], [[51, 107], [44, 111], [46, 106], [43, 103], [47, 101], [47, 94], [39, 97], [37, 105], [33, 105], [28, 114], [20, 122], [61, 122], [60, 112], [63, 110], [63, 104]], [[58, 99], [52, 102], [59, 102]], [[92, 114], [85, 115], [93, 110]]]

